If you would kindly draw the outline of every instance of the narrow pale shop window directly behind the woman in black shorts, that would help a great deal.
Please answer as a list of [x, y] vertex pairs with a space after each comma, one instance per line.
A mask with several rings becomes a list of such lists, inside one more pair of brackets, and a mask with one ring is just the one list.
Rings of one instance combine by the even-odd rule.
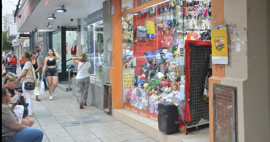
[[61, 30], [57, 30], [54, 31], [52, 33], [52, 47], [49, 48], [54, 48], [56, 50], [56, 52], [58, 53], [58, 55], [60, 56], [60, 59], [57, 60], [56, 62], [56, 66], [57, 66], [57, 70], [58, 71], [62, 71], [62, 66], [61, 66], [61, 62], [62, 62], [62, 49], [61, 49]]

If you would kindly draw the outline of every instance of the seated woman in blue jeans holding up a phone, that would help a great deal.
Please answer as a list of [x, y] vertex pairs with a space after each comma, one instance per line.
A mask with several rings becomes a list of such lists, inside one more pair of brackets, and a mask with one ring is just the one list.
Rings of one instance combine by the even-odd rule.
[[7, 106], [11, 99], [9, 91], [8, 87], [2, 87], [2, 135], [13, 134], [15, 142], [41, 142], [43, 132], [40, 129], [30, 128], [18, 122], [19, 118], [13, 109], [19, 104], [20, 99], [16, 104], [12, 104], [11, 108]]

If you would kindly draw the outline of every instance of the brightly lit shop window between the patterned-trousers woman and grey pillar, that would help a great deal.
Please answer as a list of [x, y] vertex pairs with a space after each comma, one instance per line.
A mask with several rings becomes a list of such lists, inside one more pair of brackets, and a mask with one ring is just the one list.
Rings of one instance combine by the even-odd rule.
[[104, 65], [103, 43], [103, 15], [102, 9], [84, 19], [84, 45], [83, 52], [88, 55], [91, 64], [91, 79], [102, 81], [102, 66]]

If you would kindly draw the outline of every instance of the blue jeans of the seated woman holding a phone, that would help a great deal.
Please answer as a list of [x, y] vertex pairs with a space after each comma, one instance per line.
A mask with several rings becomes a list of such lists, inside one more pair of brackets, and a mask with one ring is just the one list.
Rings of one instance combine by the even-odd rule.
[[14, 134], [15, 142], [41, 142], [43, 132], [37, 128], [27, 127]]

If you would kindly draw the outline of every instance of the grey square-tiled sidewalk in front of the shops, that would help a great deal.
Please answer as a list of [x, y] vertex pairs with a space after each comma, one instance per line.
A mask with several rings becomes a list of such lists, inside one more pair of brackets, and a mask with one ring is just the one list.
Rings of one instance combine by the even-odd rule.
[[43, 142], [155, 141], [95, 106], [87, 104], [80, 109], [77, 97], [72, 94], [60, 89], [55, 93], [53, 100], [49, 100], [49, 91], [40, 95], [41, 101], [32, 96], [35, 119], [32, 127], [42, 129]]

